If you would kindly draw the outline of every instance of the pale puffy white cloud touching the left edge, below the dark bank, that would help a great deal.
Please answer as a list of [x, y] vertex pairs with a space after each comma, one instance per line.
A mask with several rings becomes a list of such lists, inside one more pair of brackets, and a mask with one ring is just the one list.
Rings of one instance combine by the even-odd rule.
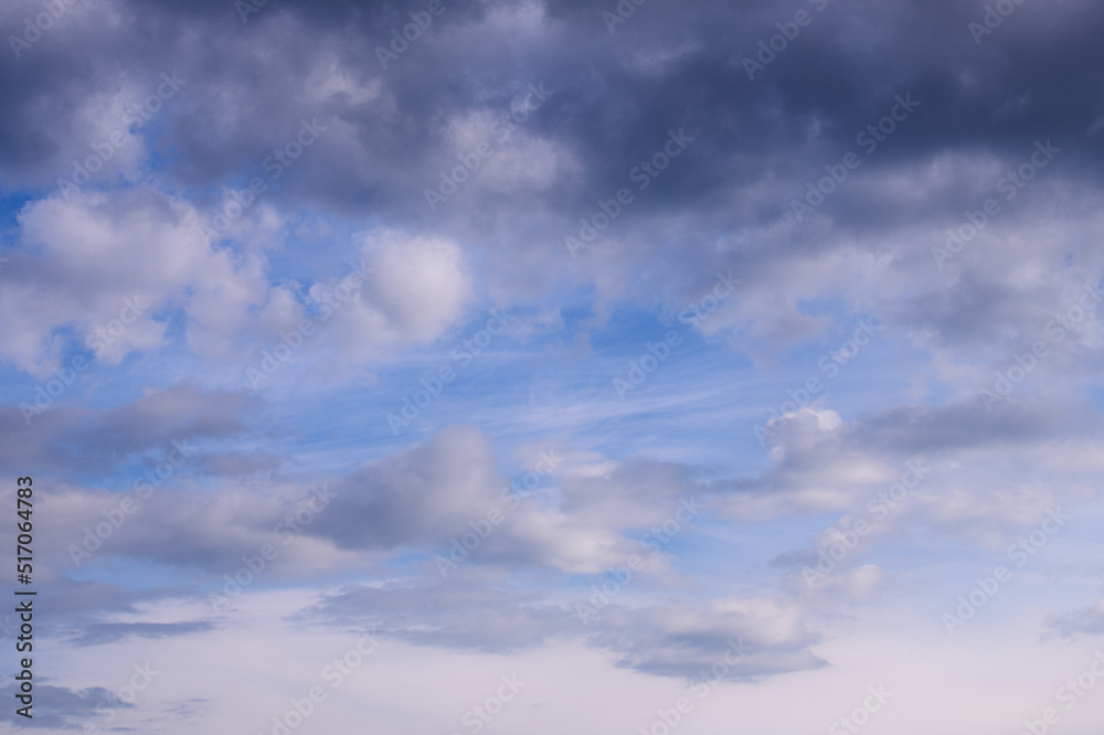
[[214, 249], [195, 222], [190, 204], [149, 189], [28, 204], [19, 215], [22, 248], [8, 264], [17, 284], [0, 295], [0, 317], [12, 327], [0, 355], [49, 374], [71, 330], [81, 348], [117, 364], [163, 347], [176, 309], [187, 315], [193, 350], [233, 354], [270, 300], [266, 264]]

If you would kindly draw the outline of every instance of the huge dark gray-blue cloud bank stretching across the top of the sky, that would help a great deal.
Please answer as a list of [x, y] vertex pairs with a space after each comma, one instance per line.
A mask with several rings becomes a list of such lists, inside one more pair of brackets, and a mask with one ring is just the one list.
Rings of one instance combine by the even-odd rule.
[[[114, 15], [89, 7], [79, 24], [59, 23], [24, 57], [0, 61], [0, 88], [14, 100], [0, 115], [0, 161], [13, 183], [47, 192], [106, 135], [113, 104], [144, 98], [162, 72], [179, 71], [188, 84], [128, 143], [148, 146], [159, 164], [128, 175], [187, 190], [205, 216], [223, 187], [266, 175], [264, 159], [300, 120], [317, 118], [326, 131], [258, 206], [353, 221], [370, 211], [384, 224], [447, 234], [485, 253], [495, 295], [541, 298], [582, 278], [602, 298], [641, 300], [655, 300], [648, 284], [661, 281], [660, 298], [678, 301], [718, 266], [733, 268], [764, 294], [781, 291], [756, 303], [752, 289], [731, 319], [716, 321], [756, 324], [762, 333], [745, 334], [756, 352], [764, 341], [810, 333], [807, 320], [777, 313], [796, 313], [797, 294], [856, 297], [831, 269], [798, 269], [857, 248], [881, 264], [871, 278], [890, 276], [884, 295], [866, 295], [887, 323], [933, 344], [1013, 347], [1002, 337], [1009, 324], [1022, 323], [1025, 305], [1059, 300], [1060, 285], [1025, 287], [1007, 268], [980, 264], [949, 286], [932, 284], [928, 251], [1038, 140], [1063, 150], [1049, 183], [1032, 184], [1054, 188], [1044, 199], [1098, 188], [1100, 139], [1085, 131], [1104, 113], [1101, 66], [1091, 63], [1104, 11], [1072, 1], [1017, 6], [978, 44], [968, 23], [984, 8], [818, 4], [649, 3], [609, 33], [602, 12], [615, 3], [448, 2], [386, 70], [376, 47], [418, 8], [287, 0], [243, 23], [222, 2], [120, 2]], [[797, 10], [813, 22], [749, 79], [742, 60]], [[13, 8], [11, 21], [20, 13]], [[499, 145], [490, 124], [537, 83], [554, 94]], [[47, 92], [56, 89], [72, 94]], [[857, 135], [899, 94], [921, 106], [810, 220], [794, 223], [790, 202], [825, 164], [860, 149]], [[562, 238], [577, 232], [578, 217], [634, 187], [630, 169], [683, 128], [694, 141], [636, 192], [608, 242], [580, 263], [566, 257]], [[495, 141], [495, 155], [431, 212], [426, 188], [480, 140]], [[105, 173], [89, 185], [110, 181]], [[1030, 232], [1053, 216], [1021, 211], [1029, 195], [1011, 203], [1000, 227]], [[1085, 204], [1079, 216], [1093, 211]], [[1104, 265], [1087, 242], [1033, 242], [1020, 252], [1047, 267], [1072, 252], [1085, 278]], [[928, 273], [917, 277], [917, 266]], [[639, 277], [609, 273], [620, 269]]]

